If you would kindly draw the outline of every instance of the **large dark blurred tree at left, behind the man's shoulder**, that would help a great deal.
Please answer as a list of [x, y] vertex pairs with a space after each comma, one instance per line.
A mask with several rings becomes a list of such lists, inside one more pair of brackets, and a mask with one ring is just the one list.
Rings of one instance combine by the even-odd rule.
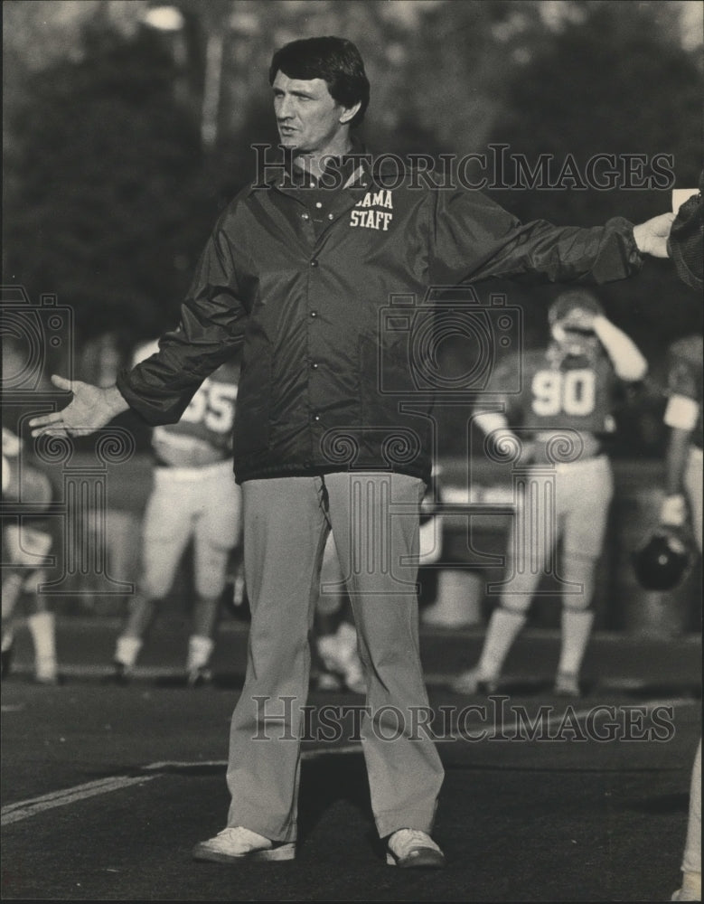
[[4, 279], [58, 293], [83, 337], [151, 335], [174, 323], [214, 217], [197, 124], [158, 35], [98, 18], [82, 47], [30, 74], [11, 110]]

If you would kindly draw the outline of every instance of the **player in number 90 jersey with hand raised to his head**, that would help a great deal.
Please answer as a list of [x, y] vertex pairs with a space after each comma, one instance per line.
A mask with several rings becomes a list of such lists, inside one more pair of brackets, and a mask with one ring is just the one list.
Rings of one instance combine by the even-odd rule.
[[[455, 692], [496, 690], [540, 577], [561, 541], [563, 606], [554, 689], [565, 696], [581, 693], [579, 674], [594, 622], [596, 563], [614, 492], [603, 439], [615, 429], [617, 382], [643, 380], [647, 363], [586, 290], [561, 294], [550, 306], [549, 326], [552, 341], [546, 350], [524, 352], [520, 361], [506, 365], [513, 372], [521, 367], [521, 392], [501, 395], [507, 382], [505, 371], [498, 368], [493, 387], [503, 411], [477, 416], [493, 448], [520, 448], [520, 465], [528, 467], [509, 537], [510, 578], [503, 582], [479, 662], [455, 679]], [[556, 453], [568, 448], [574, 454], [561, 462], [558, 455], [554, 463]]]

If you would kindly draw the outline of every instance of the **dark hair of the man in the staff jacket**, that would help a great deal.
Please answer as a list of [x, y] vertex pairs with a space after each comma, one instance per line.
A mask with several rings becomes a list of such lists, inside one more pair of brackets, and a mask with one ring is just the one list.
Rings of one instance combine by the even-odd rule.
[[343, 107], [361, 103], [350, 125], [359, 126], [369, 104], [369, 80], [361, 54], [345, 38], [302, 38], [280, 47], [271, 59], [269, 84], [277, 72], [289, 79], [323, 79], [330, 96]]

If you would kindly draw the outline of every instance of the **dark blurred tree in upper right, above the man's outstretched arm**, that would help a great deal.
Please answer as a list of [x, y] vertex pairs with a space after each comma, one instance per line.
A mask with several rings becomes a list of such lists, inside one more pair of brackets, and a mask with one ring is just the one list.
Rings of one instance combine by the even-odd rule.
[[[680, 6], [666, 0], [615, 4], [573, 0], [524, 64], [512, 72], [505, 111], [492, 140], [525, 155], [531, 166], [551, 155], [559, 179], [569, 158], [577, 184], [555, 190], [497, 193], [523, 218], [540, 215], [562, 223], [596, 224], [618, 213], [644, 219], [670, 207], [670, 186], [643, 184], [655, 155], [671, 155], [679, 185], [697, 184], [702, 162], [701, 46], [685, 51], [676, 28]], [[624, 10], [626, 14], [624, 14]], [[633, 162], [631, 185], [599, 190], [583, 181], [596, 155], [643, 155]], [[604, 179], [605, 165], [597, 170]], [[640, 172], [642, 171], [642, 172]], [[639, 184], [639, 182], [641, 184]]]

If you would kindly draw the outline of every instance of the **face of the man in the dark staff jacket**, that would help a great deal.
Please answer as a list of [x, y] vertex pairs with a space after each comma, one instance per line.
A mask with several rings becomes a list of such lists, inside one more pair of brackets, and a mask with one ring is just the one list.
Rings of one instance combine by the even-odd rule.
[[353, 116], [323, 79], [289, 79], [278, 71], [272, 88], [281, 144], [298, 154], [324, 153]]

